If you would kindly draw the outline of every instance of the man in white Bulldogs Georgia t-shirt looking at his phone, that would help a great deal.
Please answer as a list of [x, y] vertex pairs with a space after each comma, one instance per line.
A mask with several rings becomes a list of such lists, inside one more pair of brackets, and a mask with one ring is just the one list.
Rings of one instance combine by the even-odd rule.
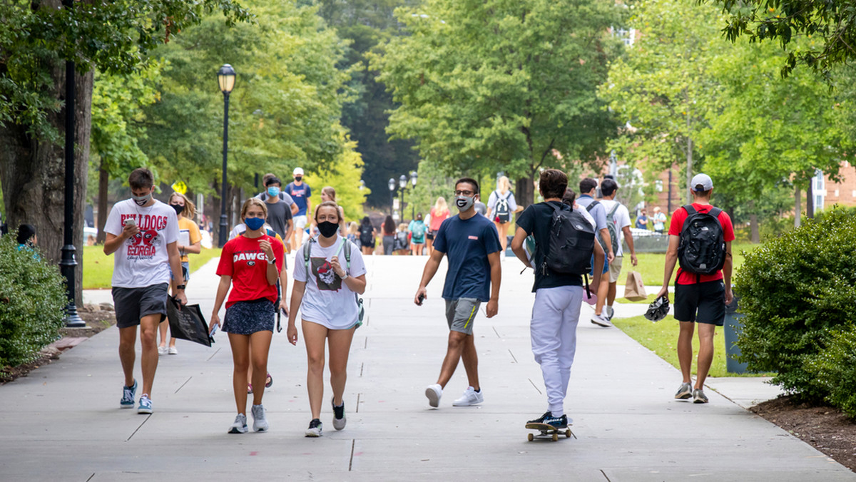
[[134, 408], [137, 325], [140, 326], [143, 394], [138, 414], [152, 414], [152, 384], [158, 370], [158, 324], [166, 318], [169, 273], [179, 283], [175, 298], [187, 304], [181, 254], [178, 253], [178, 217], [175, 210], [154, 199], [152, 171], [140, 168], [128, 176], [131, 199], [113, 205], [104, 232], [104, 254], [113, 257], [113, 305], [119, 328], [119, 360], [125, 385], [122, 408]]

